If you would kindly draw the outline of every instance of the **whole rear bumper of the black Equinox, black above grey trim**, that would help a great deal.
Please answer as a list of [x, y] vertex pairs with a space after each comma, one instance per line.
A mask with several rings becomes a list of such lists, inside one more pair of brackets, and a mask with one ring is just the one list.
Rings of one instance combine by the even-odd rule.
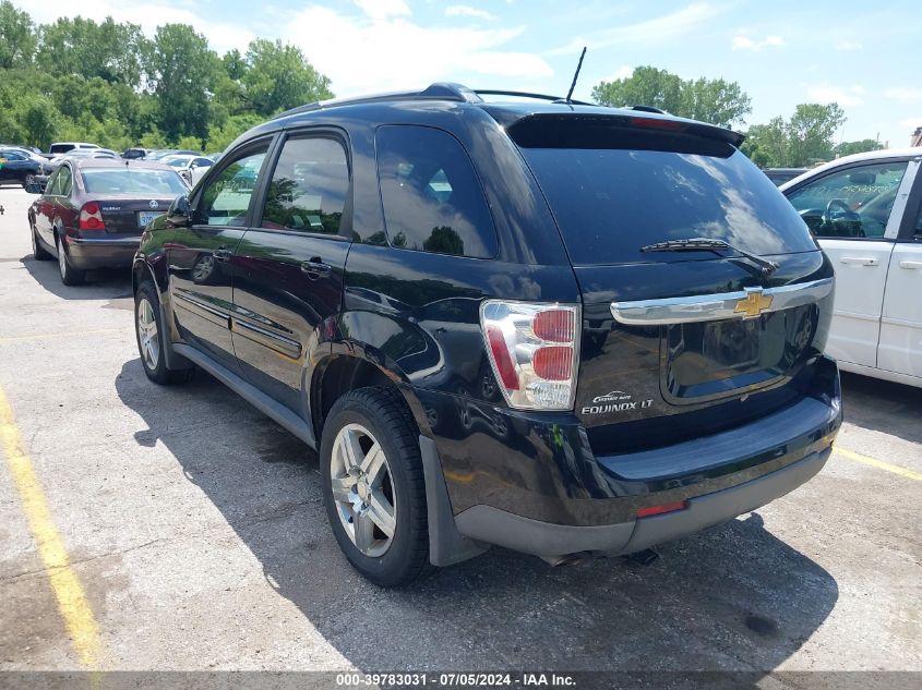
[[[781, 410], [717, 434], [620, 455], [595, 455], [570, 414], [416, 392], [427, 421], [435, 422], [435, 462], [458, 535], [540, 556], [618, 554], [731, 520], [816, 474], [831, 452], [842, 410], [835, 362], [824, 358], [815, 367], [802, 397]], [[458, 405], [462, 424], [451, 425]], [[639, 509], [678, 501], [685, 508], [636, 517]]]

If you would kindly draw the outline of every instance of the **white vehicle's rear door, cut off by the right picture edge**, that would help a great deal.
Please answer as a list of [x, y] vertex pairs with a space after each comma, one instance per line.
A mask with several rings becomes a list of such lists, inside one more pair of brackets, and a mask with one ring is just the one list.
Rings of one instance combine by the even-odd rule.
[[877, 366], [913, 376], [922, 385], [922, 178], [918, 171], [915, 192], [890, 256]]

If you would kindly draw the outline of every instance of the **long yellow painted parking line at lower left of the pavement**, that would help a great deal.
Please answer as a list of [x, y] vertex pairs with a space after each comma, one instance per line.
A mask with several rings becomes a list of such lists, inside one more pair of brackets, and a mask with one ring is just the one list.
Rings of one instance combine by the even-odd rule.
[[70, 566], [68, 552], [51, 519], [45, 492], [32, 460], [20, 438], [13, 409], [7, 394], [0, 388], [0, 451], [7, 458], [10, 474], [22, 501], [32, 536], [38, 547], [45, 572], [58, 600], [58, 609], [64, 619], [71, 642], [80, 663], [88, 669], [98, 668], [100, 641], [99, 628], [83, 586]]

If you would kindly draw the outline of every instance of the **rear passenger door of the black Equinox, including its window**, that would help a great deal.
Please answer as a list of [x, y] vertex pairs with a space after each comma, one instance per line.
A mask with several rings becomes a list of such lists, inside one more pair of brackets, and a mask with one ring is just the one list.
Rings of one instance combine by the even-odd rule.
[[253, 385], [307, 414], [306, 365], [343, 303], [351, 234], [345, 137], [289, 134], [268, 179], [235, 257], [234, 349]]

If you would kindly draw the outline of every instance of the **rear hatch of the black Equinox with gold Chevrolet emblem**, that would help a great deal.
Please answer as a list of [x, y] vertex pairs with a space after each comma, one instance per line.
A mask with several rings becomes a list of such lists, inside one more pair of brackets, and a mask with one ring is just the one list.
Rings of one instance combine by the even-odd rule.
[[[531, 116], [508, 132], [583, 294], [575, 411], [596, 452], [716, 433], [804, 395], [831, 269], [735, 134], [583, 114]], [[730, 246], [688, 251], [691, 239]]]

